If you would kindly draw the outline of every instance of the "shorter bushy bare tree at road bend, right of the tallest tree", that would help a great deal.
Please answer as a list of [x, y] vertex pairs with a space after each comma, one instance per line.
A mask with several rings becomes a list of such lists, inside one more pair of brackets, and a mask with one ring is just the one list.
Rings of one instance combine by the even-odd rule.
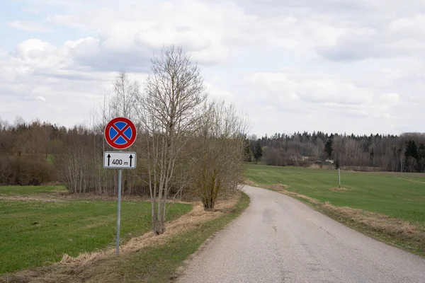
[[212, 102], [201, 126], [191, 144], [191, 189], [204, 209], [210, 210], [220, 194], [232, 192], [242, 183], [248, 125], [232, 105]]

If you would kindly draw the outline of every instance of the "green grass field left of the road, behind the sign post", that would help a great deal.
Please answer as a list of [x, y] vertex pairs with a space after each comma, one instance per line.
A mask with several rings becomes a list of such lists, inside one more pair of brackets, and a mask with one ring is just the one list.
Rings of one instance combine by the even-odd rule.
[[[115, 244], [116, 201], [60, 199], [58, 192], [65, 192], [64, 187], [0, 187], [0, 274]], [[191, 207], [173, 204], [169, 219]], [[122, 202], [122, 240], [149, 229], [150, 203]]]

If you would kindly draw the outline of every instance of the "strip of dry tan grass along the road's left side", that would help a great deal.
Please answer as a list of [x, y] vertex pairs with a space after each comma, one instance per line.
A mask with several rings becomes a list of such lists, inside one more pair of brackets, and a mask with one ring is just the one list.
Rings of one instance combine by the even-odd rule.
[[[157, 236], [153, 232], [148, 232], [140, 237], [132, 238], [120, 246], [120, 257], [115, 255], [115, 248], [107, 248], [94, 253], [82, 253], [77, 257], [65, 254], [60, 262], [53, 263], [48, 267], [37, 267], [12, 275], [3, 275], [0, 277], [0, 282], [90, 282], [86, 279], [93, 280], [99, 278], [98, 276], [103, 278], [102, 282], [113, 282], [114, 275], [111, 273], [108, 279], [105, 272], [108, 270], [113, 272], [115, 265], [118, 265], [123, 258], [148, 246], [164, 246], [173, 236], [187, 233], [201, 224], [228, 214], [235, 207], [240, 196], [238, 193], [217, 202], [215, 209], [210, 212], [205, 212], [202, 204], [196, 202], [191, 212], [167, 223], [164, 234]], [[102, 271], [102, 274], [99, 273], [99, 270]]]

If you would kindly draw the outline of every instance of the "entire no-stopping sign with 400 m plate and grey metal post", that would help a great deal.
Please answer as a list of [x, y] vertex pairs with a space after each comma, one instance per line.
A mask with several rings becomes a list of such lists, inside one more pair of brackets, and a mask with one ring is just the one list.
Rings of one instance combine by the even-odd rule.
[[135, 152], [124, 152], [136, 140], [136, 127], [125, 117], [116, 117], [108, 122], [105, 128], [106, 142], [119, 151], [103, 152], [103, 167], [118, 168], [118, 216], [116, 253], [120, 254], [120, 221], [121, 221], [121, 179], [123, 169], [136, 168], [137, 156]]

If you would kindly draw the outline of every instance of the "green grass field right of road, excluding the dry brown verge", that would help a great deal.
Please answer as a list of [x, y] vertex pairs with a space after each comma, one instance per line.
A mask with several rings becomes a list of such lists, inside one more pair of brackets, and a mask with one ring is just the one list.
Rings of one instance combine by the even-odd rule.
[[425, 174], [361, 173], [312, 168], [249, 165], [246, 177], [261, 185], [283, 184], [287, 190], [336, 207], [352, 207], [407, 221], [425, 222]]

